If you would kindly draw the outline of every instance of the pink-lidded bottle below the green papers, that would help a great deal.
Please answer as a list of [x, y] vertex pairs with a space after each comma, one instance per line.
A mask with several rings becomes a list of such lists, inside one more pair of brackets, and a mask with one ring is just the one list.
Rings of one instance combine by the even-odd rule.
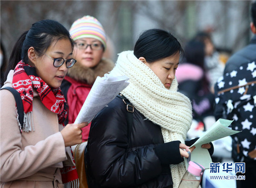
[[202, 165], [189, 161], [188, 170], [182, 177], [182, 181], [178, 188], [198, 188], [202, 180], [204, 168]]

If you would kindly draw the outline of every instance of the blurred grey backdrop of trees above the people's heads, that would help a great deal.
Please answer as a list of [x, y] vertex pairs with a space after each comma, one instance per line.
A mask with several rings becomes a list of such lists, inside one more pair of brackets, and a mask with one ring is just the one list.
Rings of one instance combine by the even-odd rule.
[[250, 0], [0, 0], [0, 39], [9, 57], [14, 42], [40, 19], [67, 29], [84, 15], [97, 18], [110, 44], [111, 58], [133, 50], [139, 34], [162, 28], [185, 45], [198, 31], [211, 32], [218, 49], [235, 52], [249, 42]]

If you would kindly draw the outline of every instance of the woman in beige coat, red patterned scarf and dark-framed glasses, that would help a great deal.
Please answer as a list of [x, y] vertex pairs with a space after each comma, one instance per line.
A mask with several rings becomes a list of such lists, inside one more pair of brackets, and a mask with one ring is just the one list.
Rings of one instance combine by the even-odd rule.
[[81, 128], [88, 123], [64, 127], [67, 102], [60, 89], [76, 62], [73, 47], [67, 29], [49, 19], [34, 23], [14, 45], [3, 88], [17, 91], [24, 123], [16, 112], [22, 105], [15, 108], [13, 94], [1, 89], [1, 188], [78, 188], [70, 146], [82, 142]]

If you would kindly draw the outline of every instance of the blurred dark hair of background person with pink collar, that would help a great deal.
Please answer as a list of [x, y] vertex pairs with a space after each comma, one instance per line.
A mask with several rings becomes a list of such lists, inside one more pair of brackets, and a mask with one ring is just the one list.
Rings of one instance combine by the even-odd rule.
[[204, 43], [200, 40], [190, 40], [184, 48], [184, 56], [188, 63], [198, 65], [204, 69]]

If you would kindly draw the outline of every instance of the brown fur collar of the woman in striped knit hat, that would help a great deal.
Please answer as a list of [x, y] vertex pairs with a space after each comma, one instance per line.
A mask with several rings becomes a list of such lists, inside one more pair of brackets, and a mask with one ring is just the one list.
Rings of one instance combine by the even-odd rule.
[[98, 76], [103, 77], [104, 74], [111, 71], [114, 66], [113, 61], [102, 58], [100, 63], [95, 67], [85, 67], [76, 63], [68, 69], [67, 75], [77, 81], [92, 85]]

